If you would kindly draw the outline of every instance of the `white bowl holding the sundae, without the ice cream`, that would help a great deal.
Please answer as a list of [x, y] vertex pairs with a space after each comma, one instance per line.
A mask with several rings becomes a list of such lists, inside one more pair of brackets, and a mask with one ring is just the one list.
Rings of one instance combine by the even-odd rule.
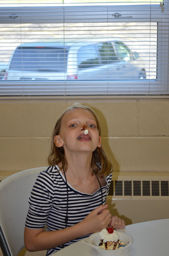
[[132, 238], [130, 237], [129, 234], [126, 234], [124, 232], [120, 232], [117, 231], [119, 234], [119, 239], [122, 240], [125, 244], [124, 247], [120, 247], [116, 250], [105, 250], [102, 249], [101, 247], [98, 247], [98, 244], [100, 243], [100, 237], [99, 237], [99, 233], [93, 233], [92, 235], [90, 235], [87, 239], [87, 243], [89, 245], [91, 245], [92, 247], [94, 247], [97, 250], [98, 255], [100, 256], [119, 256], [122, 253], [124, 253], [124, 251], [126, 251], [127, 248], [129, 248], [133, 242]]

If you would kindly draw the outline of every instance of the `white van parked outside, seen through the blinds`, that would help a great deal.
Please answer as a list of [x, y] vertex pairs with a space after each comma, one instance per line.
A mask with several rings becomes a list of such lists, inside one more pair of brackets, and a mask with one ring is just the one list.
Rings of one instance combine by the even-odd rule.
[[14, 50], [3, 80], [146, 79], [138, 57], [120, 40], [25, 43]]

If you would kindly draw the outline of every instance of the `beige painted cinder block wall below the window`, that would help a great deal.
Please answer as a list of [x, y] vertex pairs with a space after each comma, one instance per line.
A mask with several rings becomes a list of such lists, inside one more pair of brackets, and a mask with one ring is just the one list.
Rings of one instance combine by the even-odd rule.
[[1, 180], [47, 166], [57, 117], [73, 103], [90, 106], [114, 171], [169, 172], [168, 99], [22, 99], [0, 101]]

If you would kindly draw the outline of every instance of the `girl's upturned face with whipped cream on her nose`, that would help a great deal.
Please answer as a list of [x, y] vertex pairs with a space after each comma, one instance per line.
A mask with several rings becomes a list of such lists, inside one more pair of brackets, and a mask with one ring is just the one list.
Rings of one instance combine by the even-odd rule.
[[[88, 134], [84, 135], [83, 126], [87, 126]], [[72, 109], [66, 112], [61, 122], [61, 131], [55, 136], [55, 145], [64, 146], [67, 152], [93, 152], [101, 147], [101, 136], [97, 122], [91, 112], [85, 109]]]

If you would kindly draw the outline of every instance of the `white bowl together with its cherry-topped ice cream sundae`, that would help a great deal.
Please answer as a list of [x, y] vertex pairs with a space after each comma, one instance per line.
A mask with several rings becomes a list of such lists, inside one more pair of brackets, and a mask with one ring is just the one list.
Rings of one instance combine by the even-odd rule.
[[125, 255], [133, 241], [129, 234], [115, 230], [109, 233], [107, 229], [103, 229], [90, 235], [86, 242], [94, 247], [100, 256], [119, 256]]

